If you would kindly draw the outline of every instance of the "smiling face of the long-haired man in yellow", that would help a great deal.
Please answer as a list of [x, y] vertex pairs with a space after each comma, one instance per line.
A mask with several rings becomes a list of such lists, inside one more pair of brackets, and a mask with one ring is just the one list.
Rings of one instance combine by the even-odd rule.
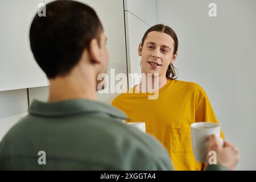
[[176, 55], [172, 55], [174, 44], [174, 39], [164, 32], [149, 32], [138, 49], [142, 73], [159, 73], [159, 77], [166, 77], [168, 66], [176, 59]]

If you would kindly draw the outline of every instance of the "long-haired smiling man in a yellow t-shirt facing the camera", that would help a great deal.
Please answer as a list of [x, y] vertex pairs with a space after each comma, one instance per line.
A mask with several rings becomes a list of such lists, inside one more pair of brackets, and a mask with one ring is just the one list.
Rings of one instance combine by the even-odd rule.
[[[138, 48], [142, 57], [141, 71], [158, 77], [159, 86], [151, 89], [147, 85], [146, 92], [141, 92], [142, 82], [148, 83], [149, 80], [142, 77], [139, 85], [116, 97], [112, 105], [125, 111], [131, 119], [129, 122], [146, 122], [146, 132], [163, 143], [176, 170], [202, 170], [204, 164], [193, 156], [190, 125], [200, 121], [218, 121], [201, 86], [175, 80], [172, 64], [177, 57], [177, 46], [177, 36], [170, 27], [157, 24], [149, 28]], [[148, 99], [156, 90], [158, 98]], [[222, 131], [221, 137], [224, 138]]]

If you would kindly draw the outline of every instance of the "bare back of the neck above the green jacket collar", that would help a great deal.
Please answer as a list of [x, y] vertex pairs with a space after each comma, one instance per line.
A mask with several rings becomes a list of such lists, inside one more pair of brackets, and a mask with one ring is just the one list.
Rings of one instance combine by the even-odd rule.
[[87, 100], [96, 100], [96, 80], [89, 77], [76, 77], [75, 75], [67, 77], [57, 77], [49, 80], [49, 98], [48, 102], [57, 102], [63, 100], [72, 100], [84, 98]]

